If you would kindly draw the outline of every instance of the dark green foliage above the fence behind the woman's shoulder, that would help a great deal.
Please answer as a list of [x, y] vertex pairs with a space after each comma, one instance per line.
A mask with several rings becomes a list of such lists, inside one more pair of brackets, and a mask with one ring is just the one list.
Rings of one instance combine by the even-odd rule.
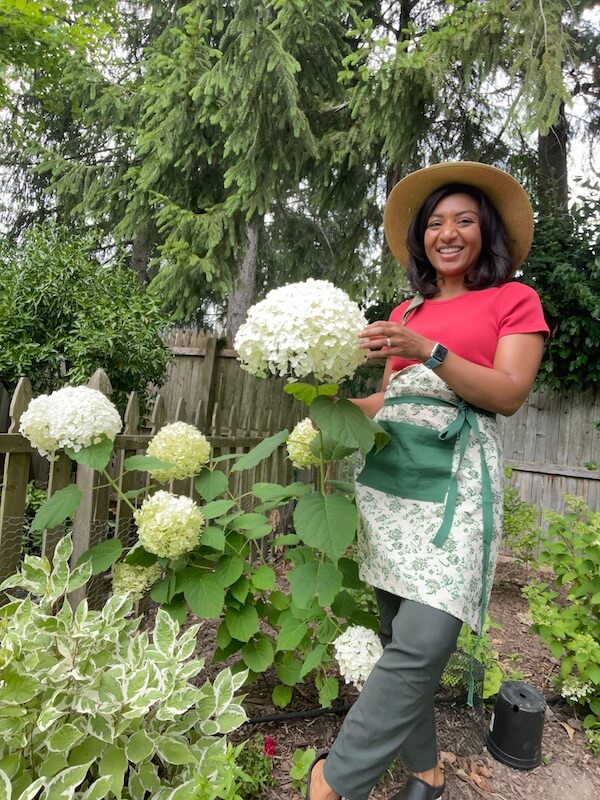
[[586, 389], [600, 381], [600, 224], [592, 196], [571, 215], [536, 223], [523, 280], [539, 293], [550, 327], [538, 382]]

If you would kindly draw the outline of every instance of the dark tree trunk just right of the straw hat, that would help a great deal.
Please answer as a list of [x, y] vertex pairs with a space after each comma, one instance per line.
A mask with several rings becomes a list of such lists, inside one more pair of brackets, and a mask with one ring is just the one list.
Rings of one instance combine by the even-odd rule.
[[561, 103], [554, 125], [546, 136], [538, 136], [538, 199], [547, 214], [564, 214], [569, 209], [568, 140], [565, 107]]

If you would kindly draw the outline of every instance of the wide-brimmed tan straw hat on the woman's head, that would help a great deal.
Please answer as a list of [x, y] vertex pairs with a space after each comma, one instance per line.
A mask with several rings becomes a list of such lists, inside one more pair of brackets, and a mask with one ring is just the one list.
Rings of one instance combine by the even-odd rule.
[[481, 189], [502, 218], [511, 244], [513, 272], [527, 258], [533, 239], [533, 209], [525, 189], [511, 175], [477, 161], [448, 161], [411, 172], [394, 186], [383, 212], [385, 237], [395, 258], [408, 266], [406, 237], [429, 195], [448, 183]]

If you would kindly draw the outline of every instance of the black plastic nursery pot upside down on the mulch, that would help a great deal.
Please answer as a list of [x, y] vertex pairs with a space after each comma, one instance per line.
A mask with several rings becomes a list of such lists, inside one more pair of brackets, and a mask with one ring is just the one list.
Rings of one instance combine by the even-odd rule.
[[535, 769], [542, 763], [542, 733], [546, 701], [521, 681], [500, 687], [486, 736], [489, 752], [515, 769]]

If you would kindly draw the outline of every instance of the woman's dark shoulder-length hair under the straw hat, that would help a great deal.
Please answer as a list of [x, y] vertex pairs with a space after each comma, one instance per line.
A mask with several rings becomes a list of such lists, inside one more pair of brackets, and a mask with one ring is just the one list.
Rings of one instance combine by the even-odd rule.
[[506, 283], [512, 274], [508, 234], [495, 207], [481, 189], [462, 183], [448, 183], [429, 195], [408, 228], [407, 278], [412, 288], [423, 297], [433, 297], [437, 292], [436, 272], [425, 253], [424, 238], [427, 222], [440, 200], [451, 194], [468, 194], [479, 204], [481, 253], [475, 268], [465, 276], [465, 286], [469, 289], [500, 286]]

